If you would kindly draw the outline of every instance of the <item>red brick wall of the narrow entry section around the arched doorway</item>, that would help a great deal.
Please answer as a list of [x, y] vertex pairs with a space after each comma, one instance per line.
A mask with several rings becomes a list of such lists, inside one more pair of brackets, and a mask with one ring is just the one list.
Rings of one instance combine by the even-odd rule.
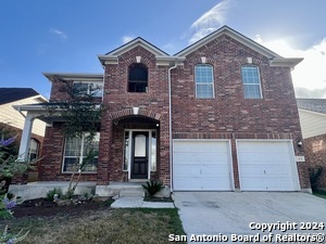
[[[127, 92], [128, 67], [141, 56], [141, 63], [148, 68], [148, 92]], [[105, 65], [104, 105], [105, 113], [101, 124], [100, 162], [98, 182], [106, 183], [127, 179], [122, 171], [123, 165], [123, 129], [114, 126], [124, 117], [133, 117], [133, 107], [140, 107], [140, 113], [160, 124], [160, 172], [153, 176], [163, 183], [170, 184], [168, 164], [168, 85], [167, 67], [156, 66], [155, 56], [141, 47], [134, 48], [118, 56], [117, 65]], [[114, 116], [113, 116], [114, 114]], [[134, 116], [137, 118], [137, 116]], [[139, 127], [141, 128], [141, 127]], [[158, 176], [159, 175], [159, 176]]]

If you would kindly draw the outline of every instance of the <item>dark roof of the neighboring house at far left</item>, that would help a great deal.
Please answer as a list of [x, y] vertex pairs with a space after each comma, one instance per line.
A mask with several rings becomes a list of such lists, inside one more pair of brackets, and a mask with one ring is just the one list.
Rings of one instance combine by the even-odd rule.
[[40, 95], [32, 88], [0, 88], [0, 105]]

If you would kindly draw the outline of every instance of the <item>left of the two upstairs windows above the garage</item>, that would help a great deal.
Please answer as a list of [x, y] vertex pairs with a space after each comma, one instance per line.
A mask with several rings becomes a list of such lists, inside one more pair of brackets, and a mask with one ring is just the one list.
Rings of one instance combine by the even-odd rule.
[[195, 66], [196, 98], [214, 98], [213, 67], [209, 64], [198, 64]]

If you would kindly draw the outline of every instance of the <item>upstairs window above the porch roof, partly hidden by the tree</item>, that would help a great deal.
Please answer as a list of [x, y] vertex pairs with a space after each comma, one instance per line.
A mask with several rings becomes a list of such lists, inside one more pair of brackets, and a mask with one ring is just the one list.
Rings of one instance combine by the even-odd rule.
[[93, 98], [102, 98], [103, 95], [103, 82], [92, 81], [92, 82], [77, 82], [73, 85], [73, 92], [77, 97], [91, 95]]

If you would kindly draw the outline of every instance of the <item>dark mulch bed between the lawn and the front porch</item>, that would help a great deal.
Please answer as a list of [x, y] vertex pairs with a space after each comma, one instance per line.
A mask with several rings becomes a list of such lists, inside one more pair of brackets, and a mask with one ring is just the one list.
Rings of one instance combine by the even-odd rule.
[[23, 202], [15, 206], [12, 211], [15, 218], [24, 217], [49, 217], [54, 215], [78, 216], [80, 213], [89, 210], [108, 209], [104, 203], [84, 202], [78, 205], [57, 206], [45, 198], [35, 198]]

